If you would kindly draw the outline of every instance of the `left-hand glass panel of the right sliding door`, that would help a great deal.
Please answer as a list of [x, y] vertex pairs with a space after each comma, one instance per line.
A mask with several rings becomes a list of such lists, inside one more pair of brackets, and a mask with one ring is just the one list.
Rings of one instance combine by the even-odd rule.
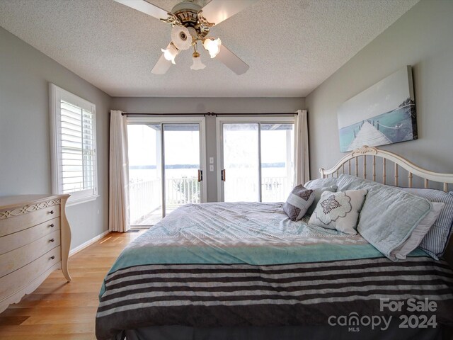
[[224, 201], [258, 202], [258, 124], [223, 124]]

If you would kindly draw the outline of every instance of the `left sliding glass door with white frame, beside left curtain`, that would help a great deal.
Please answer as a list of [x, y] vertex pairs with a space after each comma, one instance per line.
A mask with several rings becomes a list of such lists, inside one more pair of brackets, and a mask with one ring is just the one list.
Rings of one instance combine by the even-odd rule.
[[204, 118], [128, 118], [132, 227], [155, 225], [180, 205], [205, 202], [204, 131]]

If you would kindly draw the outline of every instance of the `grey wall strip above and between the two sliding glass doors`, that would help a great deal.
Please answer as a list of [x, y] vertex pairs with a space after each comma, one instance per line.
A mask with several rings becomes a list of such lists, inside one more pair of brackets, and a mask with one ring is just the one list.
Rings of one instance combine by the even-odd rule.
[[[112, 107], [128, 113], [292, 113], [304, 98], [113, 98]], [[216, 155], [215, 118], [206, 118], [206, 157]], [[217, 159], [214, 164], [217, 164]], [[217, 167], [217, 165], [214, 165]], [[217, 201], [219, 170], [205, 171], [207, 201]]]

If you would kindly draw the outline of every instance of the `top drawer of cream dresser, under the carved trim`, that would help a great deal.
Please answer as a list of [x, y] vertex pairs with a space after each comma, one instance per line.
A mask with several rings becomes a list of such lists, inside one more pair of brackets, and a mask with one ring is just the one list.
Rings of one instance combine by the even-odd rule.
[[39, 225], [42, 222], [59, 217], [60, 214], [59, 205], [47, 206], [32, 212], [23, 213], [23, 211], [27, 211], [27, 209], [30, 209], [30, 207], [11, 210], [9, 217], [0, 220], [0, 237], [12, 234], [13, 232], [20, 232], [33, 225]]

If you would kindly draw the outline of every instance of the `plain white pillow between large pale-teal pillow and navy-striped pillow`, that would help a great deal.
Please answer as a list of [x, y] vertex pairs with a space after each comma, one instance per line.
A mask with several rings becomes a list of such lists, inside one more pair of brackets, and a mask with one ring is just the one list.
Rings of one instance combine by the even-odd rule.
[[406, 242], [391, 251], [391, 256], [396, 257], [396, 259], [405, 260], [406, 256], [422, 242], [423, 237], [428, 233], [430, 227], [434, 225], [444, 206], [445, 203], [432, 202], [432, 209], [428, 212], [428, 215], [413, 229], [411, 236], [406, 239]]

